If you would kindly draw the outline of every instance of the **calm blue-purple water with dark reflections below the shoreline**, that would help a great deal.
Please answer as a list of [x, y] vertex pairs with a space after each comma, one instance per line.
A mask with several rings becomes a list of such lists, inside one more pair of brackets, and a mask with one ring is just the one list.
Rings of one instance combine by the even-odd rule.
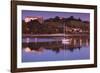
[[88, 37], [23, 38], [22, 62], [85, 60], [90, 58]]

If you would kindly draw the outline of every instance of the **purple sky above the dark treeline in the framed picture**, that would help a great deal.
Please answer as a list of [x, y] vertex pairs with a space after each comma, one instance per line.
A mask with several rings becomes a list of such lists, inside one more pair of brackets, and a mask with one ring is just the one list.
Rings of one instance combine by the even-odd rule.
[[22, 19], [24, 19], [27, 16], [42, 16], [44, 19], [54, 18], [55, 16], [64, 17], [64, 18], [74, 16], [74, 18], [76, 19], [80, 18], [83, 21], [90, 21], [89, 13], [22, 10]]

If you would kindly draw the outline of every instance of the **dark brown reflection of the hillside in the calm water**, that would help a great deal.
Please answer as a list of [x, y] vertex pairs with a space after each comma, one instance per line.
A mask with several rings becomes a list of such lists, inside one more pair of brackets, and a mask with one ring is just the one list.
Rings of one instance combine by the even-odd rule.
[[89, 46], [89, 39], [87, 38], [72, 38], [71, 43], [62, 44], [61, 41], [53, 42], [32, 42], [23, 43], [23, 48], [26, 48], [27, 52], [44, 52], [44, 50], [52, 50], [59, 53], [60, 50], [70, 50], [80, 49], [82, 46]]

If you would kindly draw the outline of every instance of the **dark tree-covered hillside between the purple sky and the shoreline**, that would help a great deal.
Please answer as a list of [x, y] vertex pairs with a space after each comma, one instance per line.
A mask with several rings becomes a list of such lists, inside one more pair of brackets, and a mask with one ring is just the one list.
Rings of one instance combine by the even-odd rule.
[[56, 16], [43, 20], [42, 23], [38, 20], [27, 23], [22, 20], [23, 34], [89, 33], [89, 27], [89, 21], [75, 19], [73, 16], [69, 18]]

